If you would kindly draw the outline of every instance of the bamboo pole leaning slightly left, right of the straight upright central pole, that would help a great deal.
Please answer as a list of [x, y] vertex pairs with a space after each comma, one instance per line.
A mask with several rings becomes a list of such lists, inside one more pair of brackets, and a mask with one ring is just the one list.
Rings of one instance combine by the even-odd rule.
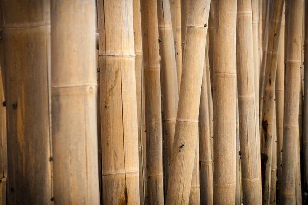
[[243, 203], [262, 204], [255, 106], [252, 2], [237, 1], [237, 90]]

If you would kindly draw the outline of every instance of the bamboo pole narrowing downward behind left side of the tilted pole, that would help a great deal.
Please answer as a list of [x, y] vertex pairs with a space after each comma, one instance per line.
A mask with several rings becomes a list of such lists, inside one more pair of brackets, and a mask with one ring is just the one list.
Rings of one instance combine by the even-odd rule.
[[164, 191], [167, 192], [169, 168], [171, 162], [172, 145], [175, 136], [175, 125], [179, 102], [177, 81], [177, 65], [175, 47], [172, 36], [172, 22], [169, 0], [157, 1], [158, 8], [158, 32], [160, 38], [161, 71], [164, 96]]

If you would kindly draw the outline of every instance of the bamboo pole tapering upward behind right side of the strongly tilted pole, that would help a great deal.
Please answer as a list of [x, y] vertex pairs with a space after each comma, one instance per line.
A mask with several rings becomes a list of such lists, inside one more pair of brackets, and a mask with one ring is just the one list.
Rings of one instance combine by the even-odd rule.
[[[207, 78], [208, 77], [208, 78]], [[213, 204], [213, 158], [211, 153], [210, 117], [209, 117], [209, 60], [207, 45], [202, 76], [199, 107], [199, 159], [200, 159], [200, 195], [201, 204]]]

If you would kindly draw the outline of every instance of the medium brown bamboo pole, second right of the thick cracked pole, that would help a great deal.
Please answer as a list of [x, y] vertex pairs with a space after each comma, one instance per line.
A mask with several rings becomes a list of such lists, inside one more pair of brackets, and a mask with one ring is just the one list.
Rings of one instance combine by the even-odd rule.
[[156, 0], [141, 1], [145, 87], [147, 192], [150, 204], [163, 204], [162, 116]]

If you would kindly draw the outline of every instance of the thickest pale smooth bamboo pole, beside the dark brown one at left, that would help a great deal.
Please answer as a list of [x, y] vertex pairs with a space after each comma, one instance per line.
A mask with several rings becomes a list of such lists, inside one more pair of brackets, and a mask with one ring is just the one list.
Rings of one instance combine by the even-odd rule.
[[52, 1], [51, 27], [54, 200], [99, 204], [95, 1]]

